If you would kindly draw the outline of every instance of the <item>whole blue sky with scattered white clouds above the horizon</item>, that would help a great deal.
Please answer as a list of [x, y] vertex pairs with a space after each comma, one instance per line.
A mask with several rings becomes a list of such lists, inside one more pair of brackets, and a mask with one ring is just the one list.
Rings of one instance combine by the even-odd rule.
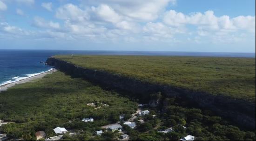
[[255, 0], [0, 0], [0, 49], [255, 53]]

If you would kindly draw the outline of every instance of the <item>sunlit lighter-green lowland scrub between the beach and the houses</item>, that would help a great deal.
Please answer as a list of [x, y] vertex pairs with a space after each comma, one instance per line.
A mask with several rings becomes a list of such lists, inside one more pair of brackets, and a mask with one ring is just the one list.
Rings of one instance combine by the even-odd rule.
[[[89, 103], [104, 103], [95, 109]], [[81, 138], [90, 138], [100, 126], [119, 121], [120, 114], [131, 114], [137, 104], [116, 92], [102, 90], [86, 80], [72, 79], [61, 72], [27, 82], [0, 93], [0, 119], [12, 121], [0, 132], [9, 137], [33, 140], [35, 131], [54, 136], [55, 127], [83, 130]], [[93, 117], [94, 123], [81, 119]], [[89, 136], [89, 137], [88, 137]]]

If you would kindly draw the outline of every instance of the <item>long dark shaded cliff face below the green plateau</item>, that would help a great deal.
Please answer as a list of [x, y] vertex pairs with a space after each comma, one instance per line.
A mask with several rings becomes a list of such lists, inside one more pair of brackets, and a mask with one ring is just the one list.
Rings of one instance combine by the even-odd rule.
[[243, 99], [232, 99], [222, 95], [214, 96], [204, 92], [193, 92], [172, 86], [145, 83], [135, 78], [77, 67], [74, 64], [52, 57], [49, 57], [46, 63], [74, 77], [85, 78], [102, 86], [129, 92], [132, 95], [140, 95], [141, 99], [149, 102], [153, 107], [156, 107], [160, 101], [150, 99], [149, 95], [161, 92], [164, 98], [184, 98], [184, 100], [194, 102], [203, 109], [212, 110], [224, 118], [229, 118], [245, 128], [255, 129], [255, 103], [249, 103]]

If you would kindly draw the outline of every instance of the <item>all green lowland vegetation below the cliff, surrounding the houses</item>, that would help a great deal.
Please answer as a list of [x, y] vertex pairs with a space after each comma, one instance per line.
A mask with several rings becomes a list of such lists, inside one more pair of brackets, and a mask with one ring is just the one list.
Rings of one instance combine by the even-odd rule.
[[[61, 140], [117, 140], [121, 135], [119, 132], [108, 132], [101, 126], [116, 123], [120, 115], [126, 121], [137, 110], [137, 103], [131, 98], [59, 71], [9, 88], [0, 95], [0, 119], [15, 122], [2, 125], [0, 132], [24, 140], [35, 140], [34, 133], [39, 130], [52, 137], [55, 127], [65, 127], [73, 133], [65, 134]], [[158, 98], [159, 95], [153, 96]], [[174, 141], [186, 135], [194, 135], [196, 140], [255, 140], [255, 132], [240, 130], [209, 110], [188, 108], [193, 106], [189, 103], [181, 105], [183, 100], [179, 98], [164, 100], [162, 112], [147, 107], [143, 109], [150, 110], [150, 115], [137, 117], [136, 129], [120, 123], [130, 140]], [[88, 105], [92, 103], [95, 106]], [[101, 108], [97, 108], [99, 106]], [[93, 117], [94, 122], [84, 123], [81, 121], [84, 117]], [[138, 122], [138, 119], [145, 123]], [[170, 127], [173, 132], [158, 132]], [[98, 130], [103, 130], [101, 136], [95, 135]]]

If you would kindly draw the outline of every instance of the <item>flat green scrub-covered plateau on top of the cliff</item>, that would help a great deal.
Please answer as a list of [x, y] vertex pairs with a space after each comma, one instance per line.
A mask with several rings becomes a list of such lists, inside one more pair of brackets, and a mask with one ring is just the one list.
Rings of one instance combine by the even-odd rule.
[[56, 55], [77, 66], [255, 102], [255, 58]]

